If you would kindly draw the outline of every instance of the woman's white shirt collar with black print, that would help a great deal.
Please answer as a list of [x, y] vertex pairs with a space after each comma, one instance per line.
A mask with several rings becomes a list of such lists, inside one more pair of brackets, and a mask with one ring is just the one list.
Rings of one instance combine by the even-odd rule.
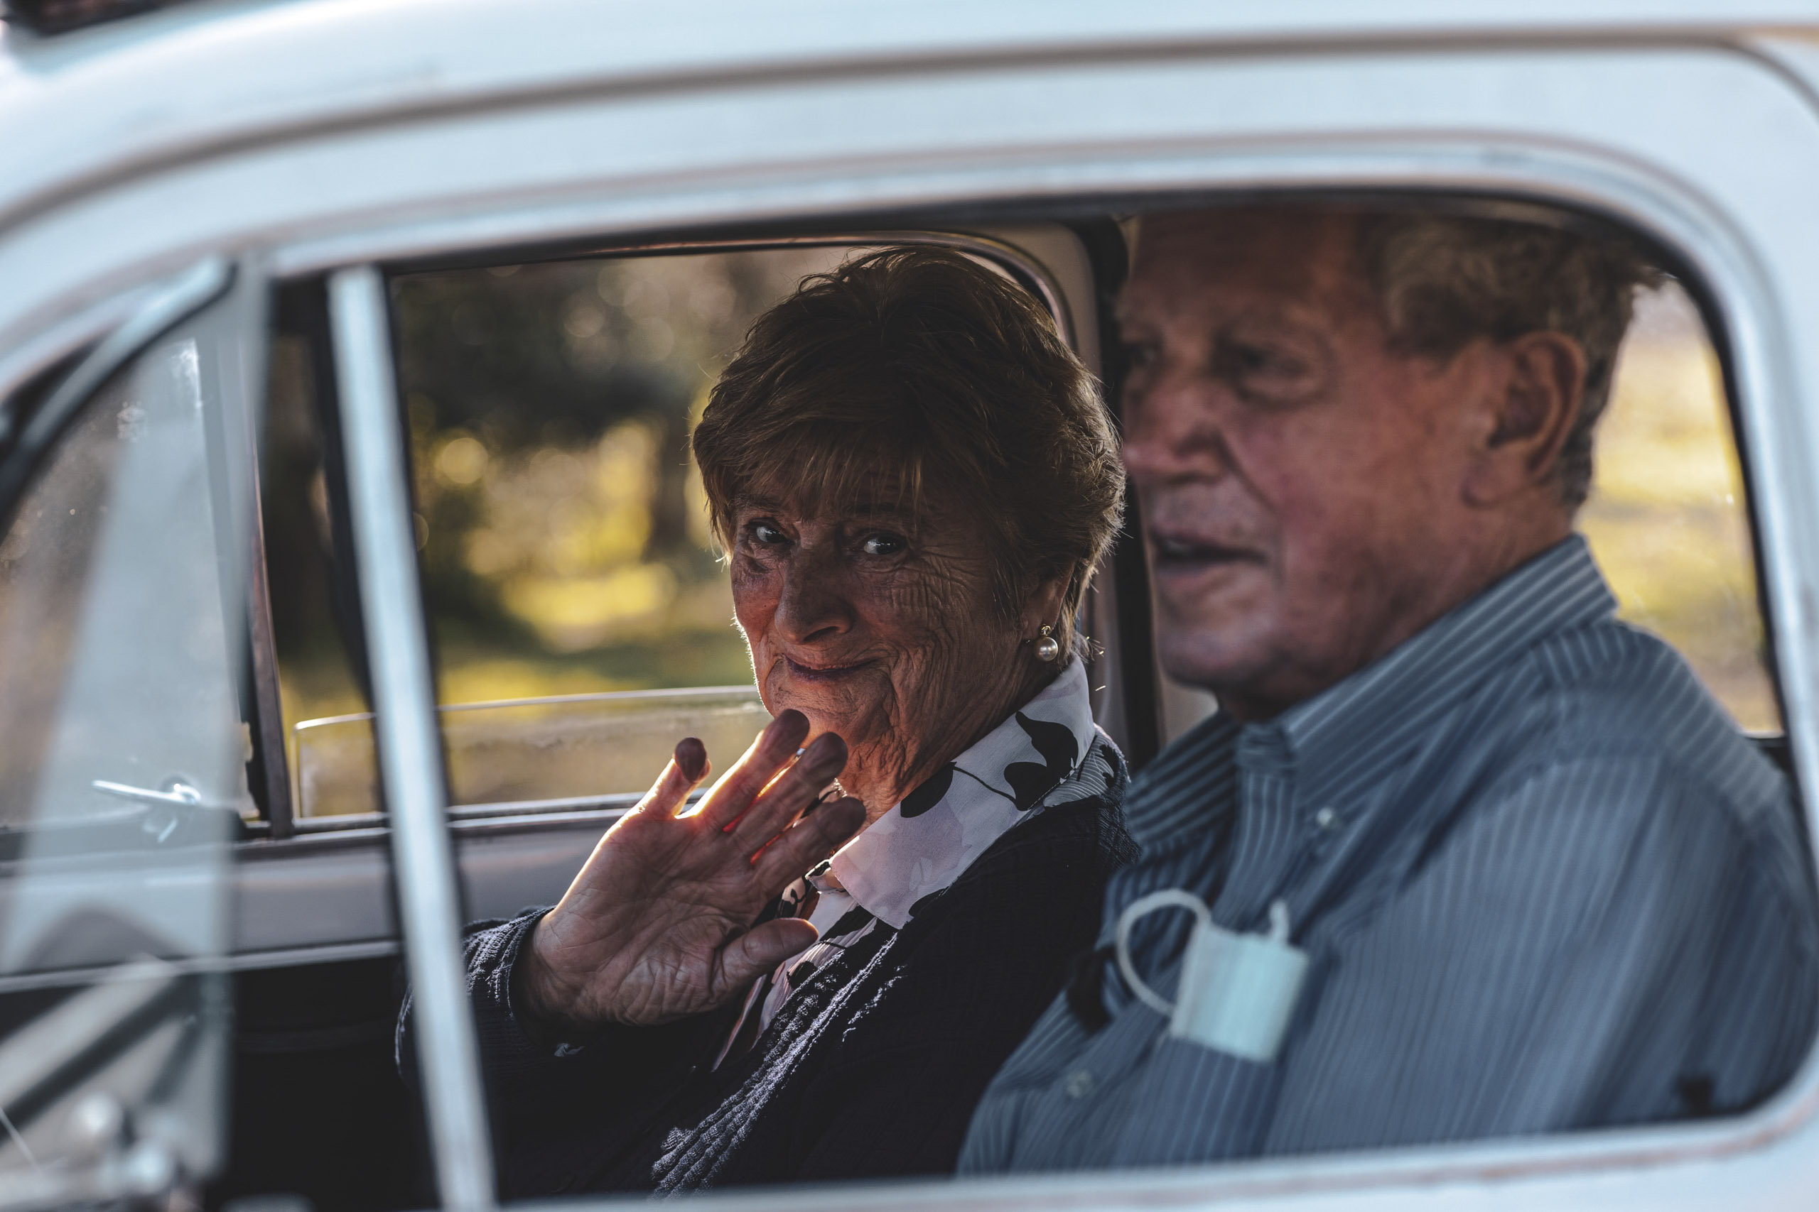
[[940, 767], [833, 856], [831, 872], [891, 927], [951, 885], [1011, 825], [1080, 774], [1095, 740], [1086, 667], [1075, 660], [1022, 709]]

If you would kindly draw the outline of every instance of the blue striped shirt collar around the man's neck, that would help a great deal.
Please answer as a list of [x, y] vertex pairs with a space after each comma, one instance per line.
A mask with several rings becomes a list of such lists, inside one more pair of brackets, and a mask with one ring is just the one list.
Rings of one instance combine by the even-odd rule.
[[[1215, 714], [1155, 761], [1124, 805], [1137, 843], [1150, 850], [1217, 820], [1204, 801], [1175, 803], [1190, 787], [1233, 787], [1244, 769], [1293, 772], [1310, 798], [1346, 787], [1352, 769], [1413, 743], [1461, 694], [1521, 660], [1537, 643], [1597, 623], [1615, 611], [1584, 538], [1573, 534], [1475, 598], [1275, 720], [1239, 727]], [[1153, 789], [1153, 790], [1151, 790]], [[1144, 794], [1144, 792], [1150, 794]], [[1161, 794], [1159, 794], [1161, 792]]]

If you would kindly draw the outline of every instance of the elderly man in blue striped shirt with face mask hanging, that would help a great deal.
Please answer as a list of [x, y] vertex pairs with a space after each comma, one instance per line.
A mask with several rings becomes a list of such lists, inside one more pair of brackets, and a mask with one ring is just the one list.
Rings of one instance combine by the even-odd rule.
[[1142, 859], [962, 1170], [1657, 1121], [1794, 1070], [1788, 781], [1572, 525], [1646, 276], [1499, 220], [1144, 222], [1124, 460], [1162, 661], [1221, 712], [1133, 785]]

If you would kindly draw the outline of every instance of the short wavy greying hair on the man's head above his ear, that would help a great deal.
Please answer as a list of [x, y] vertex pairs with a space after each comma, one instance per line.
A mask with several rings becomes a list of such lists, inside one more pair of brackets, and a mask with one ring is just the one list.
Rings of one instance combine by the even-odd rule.
[[1619, 240], [1541, 224], [1430, 213], [1364, 214], [1359, 262], [1399, 347], [1450, 356], [1484, 336], [1564, 333], [1586, 356], [1579, 416], [1561, 447], [1561, 500], [1592, 491], [1592, 432], [1610, 402], [1637, 287], [1661, 273]]

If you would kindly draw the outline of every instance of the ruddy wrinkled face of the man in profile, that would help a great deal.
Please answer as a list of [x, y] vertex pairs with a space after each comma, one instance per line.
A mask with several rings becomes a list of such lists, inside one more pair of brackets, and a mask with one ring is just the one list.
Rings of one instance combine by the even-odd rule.
[[1144, 222], [1124, 462], [1170, 676], [1271, 716], [1453, 601], [1472, 360], [1393, 351], [1341, 214]]

